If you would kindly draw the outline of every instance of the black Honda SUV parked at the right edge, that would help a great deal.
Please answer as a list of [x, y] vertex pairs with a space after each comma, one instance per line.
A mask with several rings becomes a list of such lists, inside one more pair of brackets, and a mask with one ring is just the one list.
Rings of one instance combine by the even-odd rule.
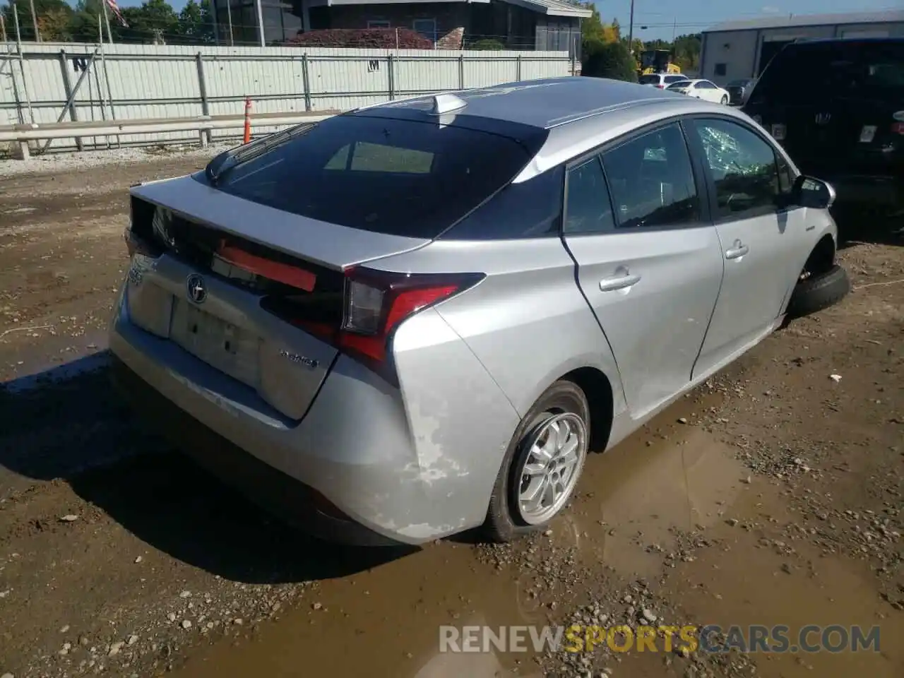
[[904, 38], [792, 42], [742, 109], [843, 212], [904, 216]]

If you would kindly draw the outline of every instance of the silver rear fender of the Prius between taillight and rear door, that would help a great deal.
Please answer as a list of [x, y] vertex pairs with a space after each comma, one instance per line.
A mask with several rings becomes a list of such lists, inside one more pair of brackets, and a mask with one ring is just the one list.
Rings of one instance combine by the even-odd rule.
[[370, 266], [485, 274], [479, 285], [439, 304], [436, 311], [465, 341], [519, 417], [552, 382], [586, 367], [609, 381], [613, 418], [626, 410], [615, 356], [580, 293], [574, 261], [558, 238], [438, 240]]

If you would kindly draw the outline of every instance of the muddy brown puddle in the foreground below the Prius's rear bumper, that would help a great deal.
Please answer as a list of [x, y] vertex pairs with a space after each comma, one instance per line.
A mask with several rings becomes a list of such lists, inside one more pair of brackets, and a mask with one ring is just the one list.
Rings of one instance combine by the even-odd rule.
[[[261, 629], [258, 641], [214, 646], [200, 662], [186, 664], [184, 675], [278, 678], [328, 669], [334, 675], [397, 678], [503, 676], [513, 662], [504, 667], [494, 654], [440, 654], [439, 627], [544, 623], [519, 611], [517, 600], [515, 582], [476, 562], [470, 547], [439, 543], [323, 582], [307, 610]], [[521, 661], [526, 664], [526, 658]]]

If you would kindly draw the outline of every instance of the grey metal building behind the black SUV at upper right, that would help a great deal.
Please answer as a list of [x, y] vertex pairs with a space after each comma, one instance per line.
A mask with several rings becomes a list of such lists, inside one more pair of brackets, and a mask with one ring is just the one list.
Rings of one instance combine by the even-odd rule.
[[700, 77], [720, 85], [740, 78], [757, 78], [788, 42], [889, 36], [904, 37], [904, 10], [725, 22], [702, 33]]

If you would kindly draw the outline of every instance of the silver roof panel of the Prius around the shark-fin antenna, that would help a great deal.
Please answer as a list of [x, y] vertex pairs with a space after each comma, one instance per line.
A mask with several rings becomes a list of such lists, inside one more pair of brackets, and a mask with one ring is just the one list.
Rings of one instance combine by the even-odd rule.
[[[455, 96], [466, 103], [458, 113], [479, 118], [550, 129], [617, 108], [668, 105], [673, 94], [634, 82], [565, 76], [524, 80], [481, 89], [463, 89]], [[368, 110], [409, 109], [428, 112], [433, 95], [389, 101]], [[358, 110], [362, 110], [359, 108]]]

